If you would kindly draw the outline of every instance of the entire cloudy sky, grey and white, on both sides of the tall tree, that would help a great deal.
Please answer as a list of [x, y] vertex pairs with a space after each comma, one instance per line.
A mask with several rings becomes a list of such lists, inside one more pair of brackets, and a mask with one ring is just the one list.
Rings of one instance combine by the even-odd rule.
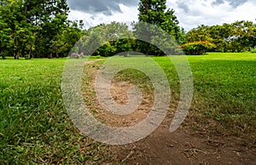
[[[84, 20], [85, 28], [111, 21], [137, 21], [139, 0], [67, 0], [70, 20]], [[255, 0], [167, 0], [186, 31], [200, 25], [222, 25], [236, 20], [256, 23]]]

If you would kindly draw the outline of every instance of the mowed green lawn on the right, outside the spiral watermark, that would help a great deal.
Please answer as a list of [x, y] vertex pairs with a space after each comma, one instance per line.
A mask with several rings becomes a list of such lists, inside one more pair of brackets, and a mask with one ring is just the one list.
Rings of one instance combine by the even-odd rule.
[[[173, 65], [168, 65], [166, 57], [155, 60], [166, 71], [177, 100], [179, 86]], [[246, 143], [255, 143], [256, 54], [211, 53], [188, 56], [188, 60], [195, 89], [189, 127], [213, 135], [236, 135]]]

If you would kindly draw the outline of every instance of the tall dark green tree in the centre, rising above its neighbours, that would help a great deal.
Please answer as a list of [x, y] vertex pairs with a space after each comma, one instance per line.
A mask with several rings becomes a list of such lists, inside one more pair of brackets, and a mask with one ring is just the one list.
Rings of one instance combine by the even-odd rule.
[[[180, 37], [183, 37], [183, 35], [180, 31], [180, 27], [178, 26], [177, 17], [174, 15], [174, 10], [166, 9], [166, 0], [141, 0], [138, 10], [139, 22], [146, 22], [152, 26], [157, 26], [158, 28], [166, 31], [177, 41], [183, 40], [180, 39]], [[142, 26], [137, 25], [135, 26], [136, 34], [140, 35], [141, 37], [149, 37], [146, 39], [146, 41], [156, 41], [158, 40], [156, 37], [159, 34], [154, 31], [152, 26], [143, 26], [143, 28], [139, 28]], [[156, 50], [155, 47], [149, 43], [138, 41], [137, 44], [141, 52], [144, 52], [146, 55], [149, 53], [159, 54], [159, 50]]]

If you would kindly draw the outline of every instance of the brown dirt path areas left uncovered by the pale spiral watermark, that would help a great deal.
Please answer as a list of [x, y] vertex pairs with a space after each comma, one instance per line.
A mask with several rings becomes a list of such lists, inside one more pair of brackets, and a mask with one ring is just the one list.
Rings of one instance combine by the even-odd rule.
[[[88, 65], [94, 65], [90, 61]], [[97, 67], [90, 67], [87, 74], [90, 77], [87, 86], [93, 88]], [[129, 82], [113, 81], [111, 94], [114, 100], [122, 105], [127, 102], [126, 92], [131, 87]], [[96, 97], [91, 97], [93, 91], [84, 90], [84, 97], [90, 101], [88, 106], [93, 109], [95, 117], [113, 127], [129, 127], [142, 121], [150, 111], [154, 98], [143, 94], [142, 104], [138, 110], [129, 116], [117, 116], [104, 111], [97, 102]], [[170, 133], [169, 127], [172, 121], [174, 108], [170, 107], [170, 113], [159, 128], [146, 139], [142, 139], [131, 145], [111, 146], [113, 161], [106, 164], [256, 164], [255, 146], [242, 145], [241, 140], [235, 137], [213, 136], [210, 138], [204, 131], [195, 133], [187, 119], [183, 127]], [[214, 133], [213, 133], [214, 134]]]

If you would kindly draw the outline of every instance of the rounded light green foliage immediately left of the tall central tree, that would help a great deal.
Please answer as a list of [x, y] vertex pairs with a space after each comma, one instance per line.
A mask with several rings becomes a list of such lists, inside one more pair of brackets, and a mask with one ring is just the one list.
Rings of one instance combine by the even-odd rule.
[[128, 26], [123, 23], [112, 22], [85, 31], [84, 36], [74, 46], [73, 52], [108, 57], [131, 51], [133, 43], [133, 33], [128, 30]]

